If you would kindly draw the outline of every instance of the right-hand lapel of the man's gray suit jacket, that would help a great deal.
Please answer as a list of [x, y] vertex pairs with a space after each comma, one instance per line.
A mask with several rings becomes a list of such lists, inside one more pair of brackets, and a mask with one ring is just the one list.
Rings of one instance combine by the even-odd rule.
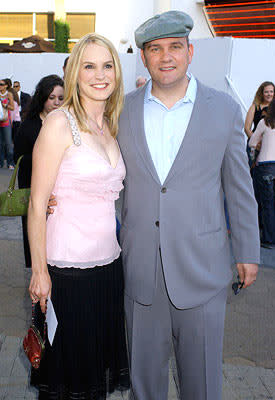
[[170, 181], [176, 173], [180, 172], [183, 169], [184, 161], [187, 158], [192, 157], [192, 149], [194, 149], [193, 146], [196, 146], [198, 134], [201, 134], [203, 132], [203, 129], [201, 127], [201, 121], [203, 119], [202, 113], [207, 113], [209, 98], [210, 96], [206, 96], [204, 93], [204, 87], [199, 81], [197, 81], [196, 100], [194, 103], [190, 121], [188, 123], [185, 136], [180, 145], [174, 163], [165, 179], [164, 185], [168, 181]]

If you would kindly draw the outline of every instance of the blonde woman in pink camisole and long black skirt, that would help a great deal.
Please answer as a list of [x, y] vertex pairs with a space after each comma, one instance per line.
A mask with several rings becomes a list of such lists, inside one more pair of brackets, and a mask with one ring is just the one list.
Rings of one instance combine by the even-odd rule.
[[[125, 177], [115, 139], [122, 104], [115, 48], [84, 36], [69, 58], [63, 107], [47, 116], [33, 151], [29, 292], [43, 313], [50, 296], [58, 321], [32, 372], [39, 399], [103, 400], [129, 387], [115, 220]], [[58, 207], [46, 221], [51, 193]]]

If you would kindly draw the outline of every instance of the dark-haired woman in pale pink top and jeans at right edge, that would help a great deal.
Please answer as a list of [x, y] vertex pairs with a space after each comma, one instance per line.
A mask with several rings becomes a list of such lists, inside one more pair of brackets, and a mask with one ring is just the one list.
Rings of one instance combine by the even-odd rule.
[[255, 151], [260, 142], [254, 173], [262, 207], [262, 246], [271, 248], [275, 244], [275, 100], [270, 103], [265, 118], [258, 123], [249, 146]]

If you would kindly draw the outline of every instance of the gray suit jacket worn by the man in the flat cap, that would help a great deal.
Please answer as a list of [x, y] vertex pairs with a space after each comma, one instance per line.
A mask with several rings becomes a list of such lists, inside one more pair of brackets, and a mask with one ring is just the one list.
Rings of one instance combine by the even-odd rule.
[[126, 165], [121, 246], [126, 294], [151, 304], [159, 247], [177, 308], [204, 304], [232, 278], [227, 199], [236, 262], [260, 258], [257, 205], [239, 105], [198, 82], [191, 119], [161, 185], [144, 132], [145, 88], [126, 96], [119, 145]]

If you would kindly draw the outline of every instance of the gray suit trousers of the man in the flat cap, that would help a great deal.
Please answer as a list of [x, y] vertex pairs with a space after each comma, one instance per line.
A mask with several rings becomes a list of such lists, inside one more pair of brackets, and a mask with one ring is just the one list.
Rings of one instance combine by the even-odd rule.
[[181, 400], [222, 399], [222, 348], [227, 288], [206, 304], [177, 309], [170, 301], [158, 259], [152, 305], [125, 296], [134, 400], [167, 400], [174, 346]]

